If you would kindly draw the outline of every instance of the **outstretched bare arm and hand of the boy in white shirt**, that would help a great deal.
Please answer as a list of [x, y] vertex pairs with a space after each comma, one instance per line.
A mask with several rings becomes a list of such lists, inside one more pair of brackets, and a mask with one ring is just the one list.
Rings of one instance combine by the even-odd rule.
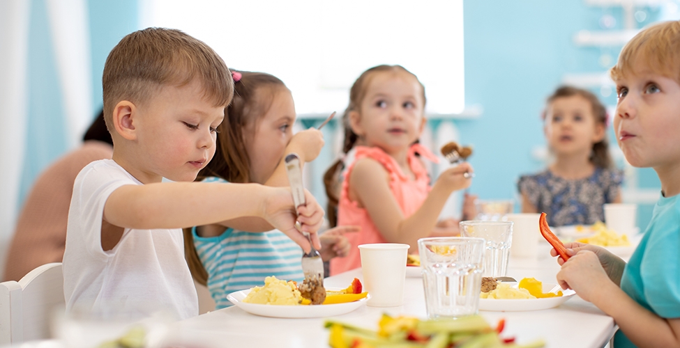
[[324, 210], [305, 191], [307, 206], [296, 216], [290, 190], [259, 184], [170, 182], [119, 187], [107, 199], [104, 220], [114, 226], [135, 229], [184, 228], [218, 223], [240, 216], [257, 216], [278, 228], [305, 251], [307, 238], [295, 229], [302, 223], [321, 247], [317, 230]]

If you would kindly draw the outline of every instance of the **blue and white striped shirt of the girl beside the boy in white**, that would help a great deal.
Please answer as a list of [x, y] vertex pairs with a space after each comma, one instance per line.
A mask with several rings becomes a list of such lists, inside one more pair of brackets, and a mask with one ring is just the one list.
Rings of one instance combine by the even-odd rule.
[[[204, 182], [226, 182], [207, 177]], [[217, 309], [232, 306], [227, 294], [264, 285], [264, 278], [302, 281], [302, 249], [279, 230], [244, 232], [227, 228], [217, 237], [199, 237], [194, 245], [208, 271], [208, 289]]]

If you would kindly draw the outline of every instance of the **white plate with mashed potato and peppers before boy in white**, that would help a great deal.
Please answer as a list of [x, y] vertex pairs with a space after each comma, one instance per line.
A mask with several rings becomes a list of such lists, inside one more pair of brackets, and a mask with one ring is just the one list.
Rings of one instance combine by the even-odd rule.
[[362, 292], [361, 282], [354, 278], [347, 288], [326, 287], [321, 304], [310, 304], [304, 298], [294, 281], [266, 277], [264, 286], [232, 292], [227, 299], [234, 306], [254, 315], [278, 318], [331, 317], [352, 312], [365, 306], [370, 299], [368, 292]]

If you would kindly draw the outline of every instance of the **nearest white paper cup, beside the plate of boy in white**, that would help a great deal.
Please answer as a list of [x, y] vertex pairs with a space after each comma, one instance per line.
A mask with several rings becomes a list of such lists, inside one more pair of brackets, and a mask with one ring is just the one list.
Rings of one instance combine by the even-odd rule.
[[408, 244], [361, 244], [363, 285], [371, 298], [366, 306], [396, 307], [404, 303]]

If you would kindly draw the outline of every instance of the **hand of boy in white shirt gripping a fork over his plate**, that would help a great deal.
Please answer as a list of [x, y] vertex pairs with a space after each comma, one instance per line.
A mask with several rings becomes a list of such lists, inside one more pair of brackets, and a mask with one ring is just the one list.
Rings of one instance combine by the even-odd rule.
[[314, 247], [321, 248], [317, 230], [324, 222], [324, 209], [317, 203], [312, 193], [305, 189], [305, 200], [307, 205], [298, 208], [299, 215], [295, 212], [293, 196], [287, 187], [271, 187], [272, 194], [267, 196], [263, 218], [271, 223], [294, 242], [303, 248], [305, 253], [310, 251], [309, 241], [299, 230], [295, 228], [295, 222], [299, 221], [303, 232], [309, 232]]

